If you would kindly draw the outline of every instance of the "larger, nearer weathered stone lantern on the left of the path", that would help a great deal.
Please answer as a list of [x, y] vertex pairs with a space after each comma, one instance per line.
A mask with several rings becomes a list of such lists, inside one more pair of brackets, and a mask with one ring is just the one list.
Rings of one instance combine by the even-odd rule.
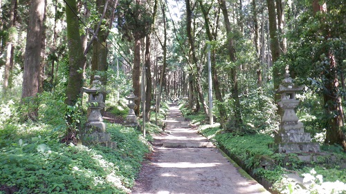
[[105, 106], [104, 97], [107, 92], [102, 88], [100, 76], [95, 75], [94, 78], [91, 88], [83, 88], [84, 93], [89, 95], [87, 102], [89, 116], [81, 139], [83, 144], [102, 143], [108, 146], [111, 136], [106, 133], [106, 124], [103, 122], [100, 111]]

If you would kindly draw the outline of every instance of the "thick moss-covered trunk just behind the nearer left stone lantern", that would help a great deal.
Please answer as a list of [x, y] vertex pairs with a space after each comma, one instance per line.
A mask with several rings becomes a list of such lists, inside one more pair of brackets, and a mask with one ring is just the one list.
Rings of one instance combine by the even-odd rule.
[[74, 106], [81, 95], [83, 66], [86, 61], [80, 38], [77, 2], [66, 0], [67, 43], [69, 48], [69, 79], [66, 86], [65, 103]]

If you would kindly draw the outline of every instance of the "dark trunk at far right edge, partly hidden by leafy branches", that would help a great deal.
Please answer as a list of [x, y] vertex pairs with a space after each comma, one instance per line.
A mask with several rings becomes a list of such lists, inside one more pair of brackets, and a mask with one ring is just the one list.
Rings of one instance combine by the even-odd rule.
[[[325, 2], [322, 2], [322, 5], [318, 0], [313, 0], [313, 15], [315, 16], [317, 12], [322, 12], [324, 14], [327, 12], [327, 5]], [[322, 20], [325, 20], [323, 18]], [[322, 21], [325, 23], [326, 21]], [[331, 32], [329, 30], [329, 26], [326, 26], [325, 29], [321, 29], [320, 33], [325, 37], [325, 41], [327, 42], [329, 39], [332, 39]], [[322, 72], [324, 75], [323, 85], [325, 86], [325, 92], [323, 93], [324, 99], [324, 108], [325, 114], [328, 117], [328, 125], [326, 130], [326, 144], [339, 144], [343, 146], [346, 151], [346, 137], [345, 133], [343, 133], [344, 126], [344, 114], [343, 114], [343, 106], [341, 103], [340, 97], [340, 89], [339, 89], [339, 80], [338, 80], [338, 64], [336, 63], [336, 59], [334, 54], [331, 52], [330, 48], [326, 51], [324, 59], [322, 61], [329, 61], [329, 63], [325, 64], [325, 71]]]

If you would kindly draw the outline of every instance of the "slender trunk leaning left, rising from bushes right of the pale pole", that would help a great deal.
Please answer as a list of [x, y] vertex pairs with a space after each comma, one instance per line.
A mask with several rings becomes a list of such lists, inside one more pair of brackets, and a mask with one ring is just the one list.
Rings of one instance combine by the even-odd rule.
[[[219, 0], [219, 6], [224, 14], [224, 20], [226, 25], [226, 33], [227, 33], [227, 49], [228, 55], [230, 57], [230, 61], [235, 62], [235, 47], [233, 44], [233, 39], [230, 37], [232, 33], [232, 28], [230, 26], [230, 21], [228, 19], [228, 12], [226, 7], [225, 0]], [[243, 125], [242, 119], [242, 109], [239, 101], [239, 91], [238, 91], [238, 79], [237, 79], [237, 68], [233, 66], [230, 69], [230, 77], [231, 77], [231, 85], [232, 85], [232, 97], [234, 100], [233, 112], [235, 115], [235, 128], [241, 128]]]

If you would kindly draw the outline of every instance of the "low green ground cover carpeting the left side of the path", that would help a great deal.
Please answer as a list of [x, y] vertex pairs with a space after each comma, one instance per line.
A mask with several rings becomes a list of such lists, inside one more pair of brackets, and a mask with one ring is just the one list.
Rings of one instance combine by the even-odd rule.
[[0, 149], [0, 185], [18, 193], [128, 193], [149, 145], [133, 128], [108, 128], [115, 150], [60, 144], [50, 130], [0, 130], [1, 144], [10, 142]]

